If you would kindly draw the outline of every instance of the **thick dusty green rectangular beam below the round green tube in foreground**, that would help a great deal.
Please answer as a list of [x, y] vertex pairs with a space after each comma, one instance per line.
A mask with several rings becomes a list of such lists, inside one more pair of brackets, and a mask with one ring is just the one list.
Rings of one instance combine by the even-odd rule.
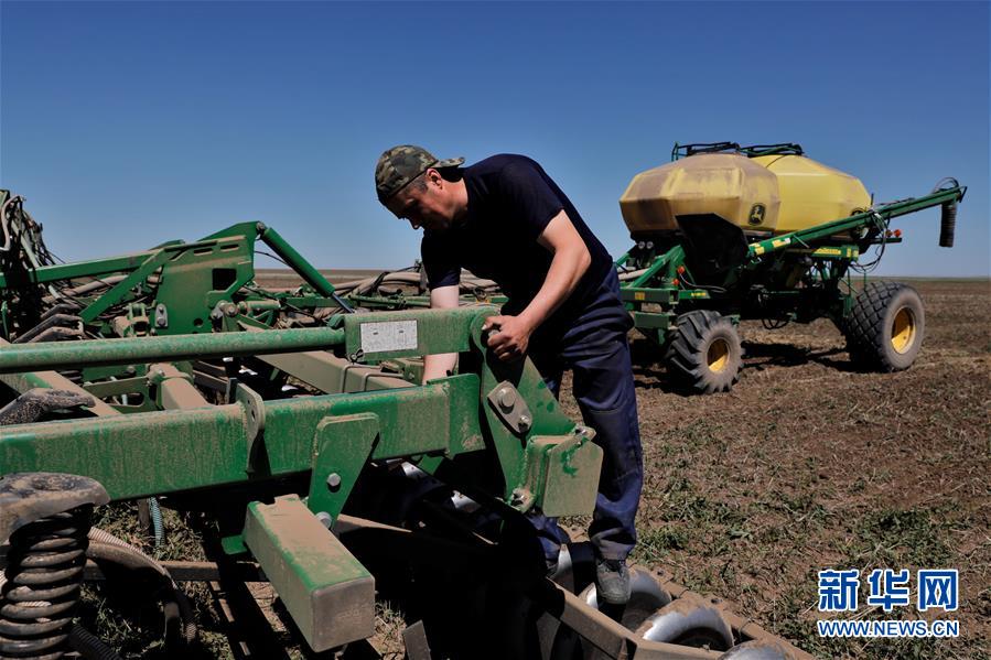
[[[114, 499], [289, 475], [312, 467], [322, 421], [358, 413], [381, 420], [375, 458], [453, 456], [485, 447], [478, 377], [466, 374], [400, 390], [265, 401], [257, 419], [250, 419], [245, 404], [231, 403], [4, 426], [0, 475], [85, 475], [100, 482]], [[259, 440], [249, 437], [255, 428]], [[249, 466], [252, 443], [258, 451]]]

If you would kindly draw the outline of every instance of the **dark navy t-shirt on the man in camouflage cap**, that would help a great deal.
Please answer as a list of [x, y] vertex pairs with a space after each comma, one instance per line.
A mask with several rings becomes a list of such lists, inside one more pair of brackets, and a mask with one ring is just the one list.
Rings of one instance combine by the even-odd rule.
[[553, 333], [577, 317], [583, 303], [613, 268], [613, 260], [561, 188], [534, 160], [499, 154], [464, 167], [465, 217], [443, 232], [424, 232], [420, 251], [430, 289], [457, 284], [461, 269], [494, 280], [519, 314], [543, 285], [553, 255], [537, 237], [562, 209], [578, 230], [592, 262], [569, 299], [541, 326]]

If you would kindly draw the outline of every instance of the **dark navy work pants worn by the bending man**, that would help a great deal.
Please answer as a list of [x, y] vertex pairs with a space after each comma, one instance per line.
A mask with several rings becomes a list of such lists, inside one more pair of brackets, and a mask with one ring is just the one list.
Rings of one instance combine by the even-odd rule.
[[[531, 346], [530, 358], [547, 386], [559, 396], [564, 369], [573, 374], [573, 392], [585, 425], [602, 447], [602, 474], [589, 538], [602, 559], [626, 559], [636, 543], [634, 519], [644, 485], [636, 392], [626, 333], [632, 321], [620, 302], [615, 271], [553, 346]], [[548, 560], [557, 561], [568, 540], [554, 519], [530, 516]]]

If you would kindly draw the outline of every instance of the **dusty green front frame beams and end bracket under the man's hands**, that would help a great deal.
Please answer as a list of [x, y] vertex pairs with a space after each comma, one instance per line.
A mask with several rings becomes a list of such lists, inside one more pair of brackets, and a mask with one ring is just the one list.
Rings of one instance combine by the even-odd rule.
[[[507, 515], [535, 507], [553, 516], [588, 515], [594, 507], [602, 459], [592, 442], [594, 433], [561, 413], [529, 361], [507, 365], [487, 354], [482, 324], [494, 313], [492, 307], [391, 312], [348, 315], [341, 329], [6, 345], [0, 349], [0, 372], [8, 387], [84, 391], [72, 381], [53, 382], [44, 374], [143, 363], [161, 410], [117, 414], [103, 403], [103, 410], [91, 405], [84, 416], [3, 426], [0, 476], [33, 472], [87, 476], [114, 500], [266, 484], [270, 488], [280, 479], [295, 477], [298, 483], [302, 476], [309, 486], [286, 493], [301, 505], [279, 500], [266, 516], [268, 505], [248, 502], [240, 519], [250, 533], [226, 529], [224, 547], [231, 553], [250, 552], [261, 563], [284, 592], [314, 649], [353, 641], [370, 635], [364, 632], [367, 626], [335, 628], [327, 620], [316, 625], [314, 617], [344, 616], [336, 610], [354, 602], [365, 621], [374, 614], [369, 609], [374, 598], [366, 597], [374, 596], [369, 573], [336, 540], [306, 550], [313, 537], [300, 537], [299, 529], [320, 528], [317, 520], [333, 526], [368, 462], [402, 458], [428, 474], [443, 470], [452, 487]], [[381, 367], [337, 358], [327, 350], [335, 348], [381, 360], [457, 351], [465, 367], [456, 376], [421, 386], [390, 379]], [[272, 356], [290, 374], [299, 371], [304, 379], [323, 382], [325, 393], [265, 399], [237, 385], [229, 402], [212, 404], [170, 361], [245, 355]], [[323, 367], [323, 375], [314, 375], [314, 366]], [[369, 383], [368, 378], [348, 380], [348, 369], [373, 374], [380, 389], [347, 391], [348, 385]], [[494, 461], [498, 478], [487, 484], [459, 468], [459, 458], [470, 454]], [[301, 517], [293, 506], [304, 506], [309, 517]], [[299, 518], [298, 524], [280, 522], [286, 516]], [[327, 562], [336, 569], [328, 572]], [[328, 635], [328, 629], [338, 631]], [[357, 637], [342, 638], [341, 630]]]

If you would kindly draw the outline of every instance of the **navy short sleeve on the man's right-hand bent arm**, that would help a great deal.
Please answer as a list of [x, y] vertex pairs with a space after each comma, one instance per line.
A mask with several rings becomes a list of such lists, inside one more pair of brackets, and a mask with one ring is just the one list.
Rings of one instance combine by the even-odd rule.
[[519, 223], [528, 238], [537, 237], [564, 205], [547, 181], [540, 165], [520, 158], [499, 173], [499, 193], [506, 204], [506, 220]]

